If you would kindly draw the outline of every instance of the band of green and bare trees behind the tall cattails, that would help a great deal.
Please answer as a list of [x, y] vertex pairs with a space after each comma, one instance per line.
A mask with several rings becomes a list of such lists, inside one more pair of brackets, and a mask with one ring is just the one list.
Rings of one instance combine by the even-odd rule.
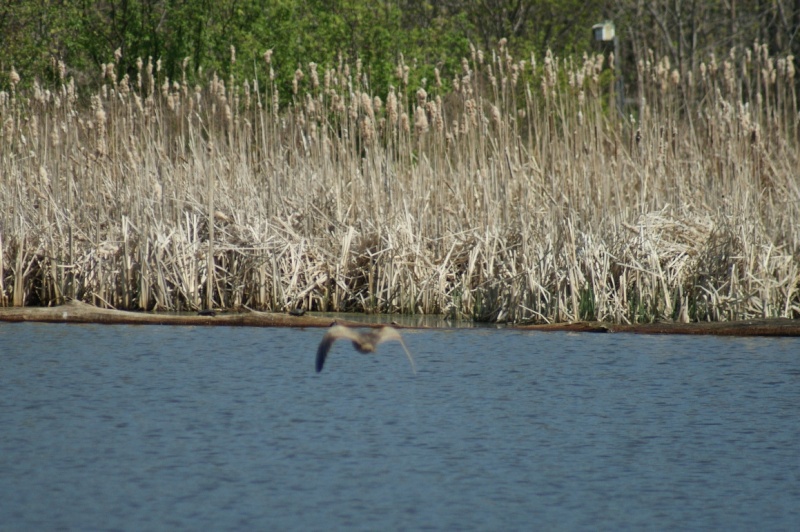
[[[800, 52], [800, 0], [0, 0], [0, 70], [55, 78], [62, 61], [80, 85], [118, 50], [119, 75], [153, 58], [172, 79], [185, 65], [189, 75], [250, 78], [273, 50], [279, 79], [341, 54], [385, 86], [401, 53], [449, 77], [470, 44], [486, 50], [502, 38], [518, 56], [581, 54], [604, 19], [631, 66], [654, 49], [692, 70], [702, 54], [756, 40], [773, 54]], [[0, 76], [0, 87], [8, 83]]]

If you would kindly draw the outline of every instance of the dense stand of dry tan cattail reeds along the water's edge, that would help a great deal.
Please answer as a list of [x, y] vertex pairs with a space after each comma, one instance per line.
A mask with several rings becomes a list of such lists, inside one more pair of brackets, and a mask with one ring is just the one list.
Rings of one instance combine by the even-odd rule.
[[[681, 73], [474, 50], [376, 94], [359, 62], [84, 97], [0, 93], [0, 305], [619, 323], [800, 315], [794, 58]], [[265, 86], [261, 86], [265, 85]], [[290, 101], [287, 105], [279, 102]]]

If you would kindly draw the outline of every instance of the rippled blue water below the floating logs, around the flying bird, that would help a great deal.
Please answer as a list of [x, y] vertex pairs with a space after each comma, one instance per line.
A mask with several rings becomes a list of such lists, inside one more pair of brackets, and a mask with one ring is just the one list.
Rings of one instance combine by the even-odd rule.
[[800, 528], [800, 340], [0, 324], [2, 530]]

